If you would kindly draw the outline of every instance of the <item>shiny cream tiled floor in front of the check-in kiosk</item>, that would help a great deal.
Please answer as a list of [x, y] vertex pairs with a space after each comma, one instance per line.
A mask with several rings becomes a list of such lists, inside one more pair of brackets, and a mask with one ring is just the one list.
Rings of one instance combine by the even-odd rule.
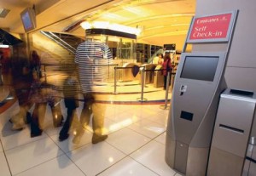
[[[53, 127], [49, 107], [42, 136], [30, 138], [28, 127], [19, 132], [12, 131], [9, 116], [19, 111], [15, 103], [0, 114], [0, 175], [180, 175], [165, 162], [168, 108], [161, 106], [163, 102], [160, 104], [154, 101], [153, 105], [135, 105], [138, 95], [127, 96], [127, 104], [114, 104], [112, 101], [121, 99], [125, 102], [124, 94], [111, 95], [105, 99], [108, 100], [108, 108], [104, 132], [108, 133], [108, 139], [96, 145], [91, 144], [90, 127], [79, 145], [73, 145], [73, 134], [69, 139], [59, 142], [60, 128]], [[145, 96], [164, 99], [165, 91]], [[65, 116], [66, 109], [62, 101], [61, 107]], [[80, 111], [81, 108], [77, 110], [78, 115]]]

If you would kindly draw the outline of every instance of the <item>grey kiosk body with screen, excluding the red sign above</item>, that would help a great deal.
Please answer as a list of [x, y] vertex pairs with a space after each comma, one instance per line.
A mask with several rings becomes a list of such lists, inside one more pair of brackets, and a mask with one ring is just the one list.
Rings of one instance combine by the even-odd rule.
[[166, 162], [180, 173], [206, 173], [224, 65], [224, 53], [181, 56], [166, 130]]

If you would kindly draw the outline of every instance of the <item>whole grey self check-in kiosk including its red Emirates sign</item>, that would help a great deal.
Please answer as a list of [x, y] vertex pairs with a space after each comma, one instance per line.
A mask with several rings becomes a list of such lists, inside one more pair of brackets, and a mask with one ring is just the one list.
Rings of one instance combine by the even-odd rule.
[[[224, 69], [237, 12], [196, 16], [191, 21], [177, 67], [166, 127], [166, 163], [178, 173], [207, 175], [212, 131], [219, 95], [226, 88]], [[186, 53], [188, 43], [226, 43], [227, 48], [218, 53], [205, 49]]]

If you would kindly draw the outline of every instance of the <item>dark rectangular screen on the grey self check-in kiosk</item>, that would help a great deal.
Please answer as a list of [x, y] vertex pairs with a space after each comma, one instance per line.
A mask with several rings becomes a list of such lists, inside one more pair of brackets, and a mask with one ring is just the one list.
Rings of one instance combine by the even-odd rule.
[[180, 77], [212, 82], [217, 65], [217, 56], [187, 56]]

